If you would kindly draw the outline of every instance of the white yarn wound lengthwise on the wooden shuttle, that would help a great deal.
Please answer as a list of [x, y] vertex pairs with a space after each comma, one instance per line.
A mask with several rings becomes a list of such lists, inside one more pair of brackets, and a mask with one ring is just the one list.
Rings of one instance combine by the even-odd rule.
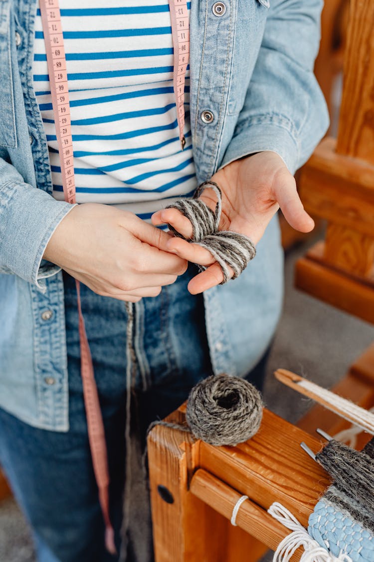
[[[332, 411], [338, 408], [341, 418], [346, 419], [348, 422], [353, 422], [365, 431], [374, 435], [374, 414], [368, 410], [364, 410], [357, 404], [350, 402], [347, 398], [342, 398], [334, 392], [326, 390], [312, 383], [310, 380], [302, 379], [297, 382], [297, 386], [305, 388], [307, 391], [319, 396], [325, 401], [324, 406]], [[331, 408], [329, 408], [331, 405]]]

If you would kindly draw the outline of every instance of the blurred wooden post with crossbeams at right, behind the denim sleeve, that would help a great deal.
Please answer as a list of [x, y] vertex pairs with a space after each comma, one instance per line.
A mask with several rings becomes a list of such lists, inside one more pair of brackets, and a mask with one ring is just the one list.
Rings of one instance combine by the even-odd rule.
[[299, 186], [326, 238], [299, 260], [296, 284], [374, 323], [373, 27], [374, 3], [350, 0], [338, 138], [317, 147]]

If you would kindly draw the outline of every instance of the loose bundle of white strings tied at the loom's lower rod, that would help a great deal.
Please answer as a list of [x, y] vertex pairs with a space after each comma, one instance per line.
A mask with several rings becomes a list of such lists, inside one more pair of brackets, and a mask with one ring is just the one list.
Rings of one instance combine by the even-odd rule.
[[300, 562], [352, 562], [352, 559], [344, 552], [341, 552], [336, 558], [331, 552], [322, 548], [295, 516], [279, 502], [274, 502], [267, 513], [292, 531], [279, 543], [274, 552], [273, 562], [289, 562], [300, 546], [304, 549]]

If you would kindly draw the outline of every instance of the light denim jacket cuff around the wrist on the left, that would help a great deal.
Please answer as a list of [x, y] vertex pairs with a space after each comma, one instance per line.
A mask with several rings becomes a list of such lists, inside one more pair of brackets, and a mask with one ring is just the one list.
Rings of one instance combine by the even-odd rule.
[[44, 292], [41, 280], [61, 269], [43, 260], [45, 248], [73, 207], [75, 205], [56, 201], [26, 183], [3, 185], [0, 189], [0, 273], [18, 275]]

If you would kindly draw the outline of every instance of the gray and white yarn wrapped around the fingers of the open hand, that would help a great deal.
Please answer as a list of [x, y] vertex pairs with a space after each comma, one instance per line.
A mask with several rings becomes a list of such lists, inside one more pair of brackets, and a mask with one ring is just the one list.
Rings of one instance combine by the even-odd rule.
[[[218, 199], [214, 211], [204, 201], [198, 199], [204, 189], [207, 188], [213, 189]], [[256, 247], [250, 238], [231, 230], [218, 230], [222, 212], [222, 194], [215, 182], [202, 183], [196, 189], [192, 199], [178, 200], [169, 205], [167, 209], [178, 209], [182, 215], [190, 220], [192, 225], [191, 242], [208, 250], [218, 262], [223, 273], [221, 285], [227, 283], [230, 278], [236, 279], [246, 269], [248, 262], [255, 257]], [[172, 225], [168, 224], [168, 226], [177, 237], [184, 238]], [[201, 270], [206, 269], [202, 265], [199, 265], [199, 267]], [[234, 272], [232, 277], [230, 268]]]

